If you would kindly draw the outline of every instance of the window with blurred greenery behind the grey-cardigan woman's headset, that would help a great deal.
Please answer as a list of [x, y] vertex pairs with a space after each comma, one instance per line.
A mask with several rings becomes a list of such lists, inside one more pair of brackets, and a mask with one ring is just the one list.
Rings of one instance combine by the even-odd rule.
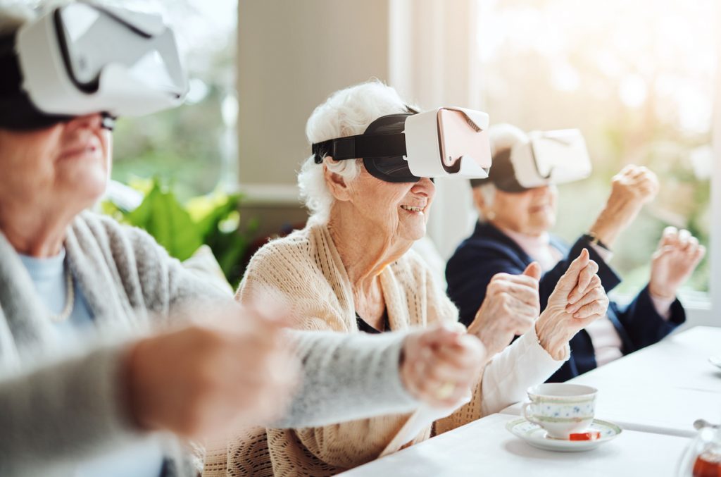
[[[128, 6], [128, 2], [123, 2]], [[190, 76], [186, 104], [144, 118], [120, 118], [112, 178], [160, 176], [182, 199], [236, 182], [236, 0], [138, 0], [174, 27]]]

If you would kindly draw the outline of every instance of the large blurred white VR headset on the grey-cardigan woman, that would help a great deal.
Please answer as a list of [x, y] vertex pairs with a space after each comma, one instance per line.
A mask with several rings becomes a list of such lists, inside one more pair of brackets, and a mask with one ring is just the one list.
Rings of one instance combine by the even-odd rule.
[[87, 2], [0, 37], [0, 71], [0, 128], [146, 115], [180, 105], [187, 92], [174, 34], [159, 15]]

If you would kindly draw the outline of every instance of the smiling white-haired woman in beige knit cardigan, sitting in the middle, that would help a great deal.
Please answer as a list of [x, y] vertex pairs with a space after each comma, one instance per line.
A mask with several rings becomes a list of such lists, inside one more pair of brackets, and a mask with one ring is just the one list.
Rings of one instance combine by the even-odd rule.
[[[366, 82], [335, 92], [316, 108], [306, 135], [318, 143], [363, 134], [385, 123], [388, 115], [412, 113], [394, 89]], [[378, 160], [389, 165], [386, 172], [404, 163], [398, 157]], [[380, 169], [382, 165], [371, 168], [361, 158], [309, 157], [298, 175], [311, 212], [308, 224], [258, 251], [236, 297], [248, 302], [258, 292], [275, 289], [293, 307], [297, 328], [305, 330], [382, 333], [456, 323], [456, 307], [423, 259], [410, 250], [425, 235], [433, 182], [390, 182]], [[552, 375], [568, 359], [570, 338], [606, 310], [607, 298], [594, 270], [588, 253], [581, 253], [540, 317], [536, 265], [518, 275], [497, 276], [488, 286], [489, 299], [468, 327], [469, 338], [479, 338], [487, 350], [485, 370], [472, 382], [471, 400], [404, 445], [500, 411], [521, 400], [529, 385]], [[580, 292], [588, 304], [583, 318], [565, 312], [571, 292]], [[516, 333], [521, 339], [497, 354]], [[456, 402], [469, 393], [446, 385], [437, 391]], [[245, 470], [254, 475], [333, 475], [378, 458], [408, 417], [396, 414], [293, 431], [262, 429], [245, 439], [239, 455], [242, 461], [252, 455]]]

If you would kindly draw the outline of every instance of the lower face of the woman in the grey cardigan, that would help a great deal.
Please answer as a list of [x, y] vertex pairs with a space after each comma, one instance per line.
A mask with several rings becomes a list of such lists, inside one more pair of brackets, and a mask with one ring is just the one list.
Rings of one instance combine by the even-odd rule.
[[35, 131], [0, 130], [0, 201], [79, 211], [105, 191], [110, 131], [99, 114]]

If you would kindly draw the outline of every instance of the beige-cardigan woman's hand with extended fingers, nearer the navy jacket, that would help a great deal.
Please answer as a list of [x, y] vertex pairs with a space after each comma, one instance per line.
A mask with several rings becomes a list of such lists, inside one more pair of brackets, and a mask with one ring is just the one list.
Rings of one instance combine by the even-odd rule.
[[568, 267], [548, 299], [546, 310], [536, 322], [536, 334], [554, 359], [561, 359], [566, 346], [581, 328], [606, 315], [609, 297], [596, 272], [598, 265], [590, 260], [588, 250]]

